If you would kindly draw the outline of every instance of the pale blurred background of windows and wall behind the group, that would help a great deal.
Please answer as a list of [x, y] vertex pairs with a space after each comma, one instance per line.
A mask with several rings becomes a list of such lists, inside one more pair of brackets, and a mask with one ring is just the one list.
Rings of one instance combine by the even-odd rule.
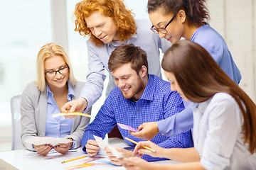
[[[72, 18], [77, 3], [78, 0], [0, 0], [0, 152], [11, 150], [11, 97], [21, 94], [36, 79], [36, 56], [41, 46], [48, 42], [63, 45], [75, 78], [86, 81], [87, 38], [74, 31]], [[124, 3], [136, 19], [149, 19], [147, 0]], [[223, 35], [242, 74], [240, 87], [255, 102], [256, 0], [207, 3], [210, 26]], [[97, 114], [104, 101], [105, 92], [92, 107], [92, 115]]]

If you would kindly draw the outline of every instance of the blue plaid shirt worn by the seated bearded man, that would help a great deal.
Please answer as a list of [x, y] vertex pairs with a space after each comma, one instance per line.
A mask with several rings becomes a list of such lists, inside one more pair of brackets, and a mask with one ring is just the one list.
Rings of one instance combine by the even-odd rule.
[[[87, 140], [95, 140], [93, 135], [104, 138], [117, 123], [137, 128], [142, 123], [163, 120], [183, 111], [183, 109], [182, 98], [176, 91], [171, 91], [169, 82], [149, 74], [149, 81], [146, 84], [142, 97], [137, 102], [124, 98], [122, 91], [118, 87], [110, 92], [104, 105], [100, 108], [99, 113], [97, 113], [95, 120], [85, 129], [81, 143], [82, 148], [85, 151]], [[142, 141], [130, 135], [128, 130], [121, 128], [119, 130], [123, 137], [128, 137], [137, 142]], [[132, 142], [127, 140], [125, 142], [128, 145], [134, 146]], [[164, 148], [184, 148], [191, 146], [191, 136], [189, 131], [174, 137], [158, 134], [151, 142]], [[163, 160], [150, 157], [149, 155], [144, 155], [142, 158], [149, 162]]]

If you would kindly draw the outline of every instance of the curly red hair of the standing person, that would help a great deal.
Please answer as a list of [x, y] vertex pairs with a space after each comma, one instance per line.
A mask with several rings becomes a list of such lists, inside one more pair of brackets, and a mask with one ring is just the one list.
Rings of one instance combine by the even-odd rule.
[[103, 15], [113, 19], [117, 26], [117, 35], [120, 41], [129, 39], [136, 33], [137, 27], [134, 20], [134, 13], [128, 10], [121, 0], [83, 0], [75, 6], [75, 31], [80, 35], [88, 35], [95, 45], [102, 45], [103, 42], [92, 34], [87, 28], [85, 17], [90, 16], [95, 11], [100, 11]]

